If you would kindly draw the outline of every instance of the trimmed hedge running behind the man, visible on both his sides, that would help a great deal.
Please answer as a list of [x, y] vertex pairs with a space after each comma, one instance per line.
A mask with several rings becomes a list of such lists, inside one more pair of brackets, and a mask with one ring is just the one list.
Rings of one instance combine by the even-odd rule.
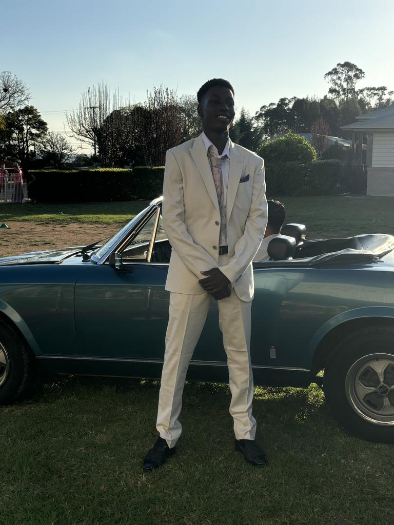
[[[161, 195], [164, 167], [132, 170], [36, 170], [31, 188], [38, 202], [108, 202], [149, 200]], [[340, 193], [342, 165], [337, 160], [266, 163], [267, 195]]]

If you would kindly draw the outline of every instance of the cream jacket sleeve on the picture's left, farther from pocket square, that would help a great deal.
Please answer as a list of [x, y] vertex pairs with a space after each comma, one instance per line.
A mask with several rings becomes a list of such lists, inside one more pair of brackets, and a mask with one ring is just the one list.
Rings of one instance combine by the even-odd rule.
[[186, 268], [199, 279], [202, 271], [217, 268], [217, 261], [194, 242], [184, 223], [183, 178], [171, 151], [165, 155], [162, 209], [164, 231]]

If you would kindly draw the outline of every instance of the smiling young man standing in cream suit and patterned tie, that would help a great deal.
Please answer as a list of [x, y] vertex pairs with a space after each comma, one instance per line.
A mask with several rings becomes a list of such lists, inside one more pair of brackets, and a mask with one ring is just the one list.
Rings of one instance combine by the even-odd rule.
[[211, 297], [217, 300], [229, 366], [235, 448], [253, 465], [266, 465], [254, 441], [250, 360], [252, 259], [267, 223], [264, 161], [229, 139], [235, 116], [229, 82], [209, 80], [197, 98], [203, 133], [169, 150], [165, 159], [163, 227], [172, 246], [165, 289], [171, 295], [160, 437], [144, 458], [144, 470], [162, 466], [175, 452], [185, 376]]

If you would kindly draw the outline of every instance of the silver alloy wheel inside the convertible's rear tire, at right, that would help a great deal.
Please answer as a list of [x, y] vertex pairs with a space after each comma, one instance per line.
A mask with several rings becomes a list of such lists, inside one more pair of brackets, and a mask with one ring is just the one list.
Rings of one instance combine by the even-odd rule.
[[345, 391], [351, 408], [369, 423], [394, 425], [394, 358], [363, 356], [349, 369]]

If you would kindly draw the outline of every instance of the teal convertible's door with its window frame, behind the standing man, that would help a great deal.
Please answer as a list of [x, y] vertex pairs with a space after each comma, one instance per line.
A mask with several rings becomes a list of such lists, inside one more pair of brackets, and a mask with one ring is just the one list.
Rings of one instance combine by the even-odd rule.
[[[168, 251], [158, 206], [120, 250], [120, 270], [106, 262], [81, 277], [75, 289], [75, 318], [82, 358], [163, 360], [170, 296], [164, 290]], [[225, 362], [213, 300], [193, 360]]]

